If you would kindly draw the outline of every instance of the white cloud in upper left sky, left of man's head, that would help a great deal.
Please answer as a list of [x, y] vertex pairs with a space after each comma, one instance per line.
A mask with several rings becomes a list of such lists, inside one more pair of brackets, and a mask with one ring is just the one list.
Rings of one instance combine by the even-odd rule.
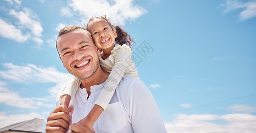
[[[12, 6], [20, 6], [19, 0], [5, 0]], [[11, 39], [18, 43], [24, 43], [31, 39], [37, 43], [36, 48], [41, 48], [44, 41], [41, 39], [43, 28], [41, 22], [31, 9], [23, 8], [20, 10], [8, 9], [6, 10], [10, 17], [8, 19], [0, 18], [0, 36]], [[8, 21], [7, 21], [8, 20]]]

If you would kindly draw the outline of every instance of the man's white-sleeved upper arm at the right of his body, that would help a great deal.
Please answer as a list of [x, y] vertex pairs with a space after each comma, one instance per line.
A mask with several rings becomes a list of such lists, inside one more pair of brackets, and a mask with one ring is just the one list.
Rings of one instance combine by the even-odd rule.
[[153, 95], [141, 80], [129, 91], [129, 115], [134, 133], [167, 133]]

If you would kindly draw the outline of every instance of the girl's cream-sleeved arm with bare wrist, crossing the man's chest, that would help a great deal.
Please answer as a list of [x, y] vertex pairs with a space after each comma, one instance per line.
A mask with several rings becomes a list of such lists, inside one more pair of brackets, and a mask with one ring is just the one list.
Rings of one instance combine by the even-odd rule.
[[87, 117], [83, 118], [78, 123], [81, 123], [89, 129], [93, 129], [95, 121], [97, 121], [100, 114], [107, 108], [107, 105], [110, 102], [117, 85], [121, 81], [126, 67], [128, 66], [132, 54], [131, 49], [129, 48], [128, 50], [130, 51], [124, 49], [116, 50], [116, 55], [114, 57], [115, 63], [107, 78], [103, 90], [101, 91], [97, 101], [95, 102], [95, 106], [88, 113]]

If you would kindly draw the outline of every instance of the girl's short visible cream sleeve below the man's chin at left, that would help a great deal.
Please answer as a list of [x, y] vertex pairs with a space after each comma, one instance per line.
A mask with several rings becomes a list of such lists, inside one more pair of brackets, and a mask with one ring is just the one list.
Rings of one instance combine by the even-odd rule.
[[71, 99], [72, 99], [74, 97], [76, 91], [78, 90], [78, 87], [80, 84], [81, 84], [81, 82], [79, 81], [78, 78], [76, 78], [76, 77], [71, 78], [70, 81], [68, 81], [64, 91], [60, 95], [60, 98], [62, 98], [63, 95], [70, 95]]

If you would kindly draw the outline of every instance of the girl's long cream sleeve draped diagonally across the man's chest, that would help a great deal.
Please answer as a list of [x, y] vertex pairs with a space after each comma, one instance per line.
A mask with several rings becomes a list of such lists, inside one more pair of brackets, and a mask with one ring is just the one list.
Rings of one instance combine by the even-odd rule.
[[103, 90], [99, 94], [99, 97], [95, 104], [101, 106], [104, 110], [107, 108], [108, 103], [110, 102], [117, 85], [119, 84], [121, 78], [124, 75], [124, 71], [128, 66], [131, 55], [124, 49], [118, 49], [115, 51], [115, 61], [113, 68], [107, 78]]

